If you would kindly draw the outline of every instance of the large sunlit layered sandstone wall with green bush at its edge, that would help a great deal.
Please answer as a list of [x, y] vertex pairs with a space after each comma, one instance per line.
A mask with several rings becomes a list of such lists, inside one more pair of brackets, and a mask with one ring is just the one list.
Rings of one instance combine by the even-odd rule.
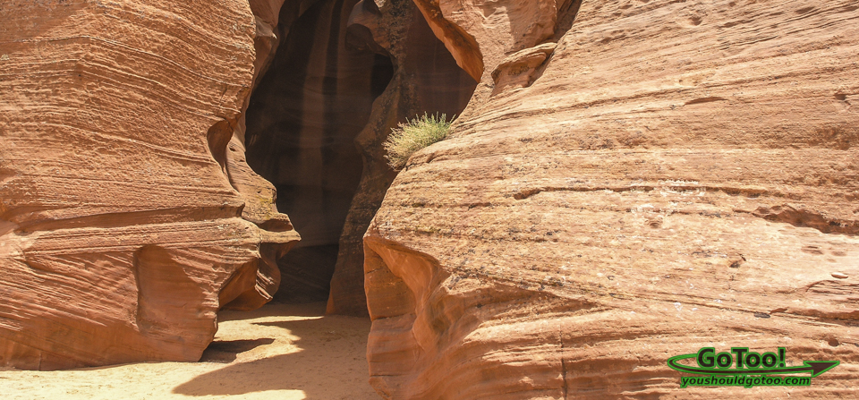
[[[412, 157], [364, 238], [374, 387], [859, 396], [859, 5], [567, 5], [522, 40], [491, 33], [533, 21], [515, 8], [438, 5], [484, 72], [476, 111]], [[528, 83], [492, 95], [502, 60], [546, 38]], [[679, 389], [668, 357], [708, 345], [841, 365], [811, 387]]]

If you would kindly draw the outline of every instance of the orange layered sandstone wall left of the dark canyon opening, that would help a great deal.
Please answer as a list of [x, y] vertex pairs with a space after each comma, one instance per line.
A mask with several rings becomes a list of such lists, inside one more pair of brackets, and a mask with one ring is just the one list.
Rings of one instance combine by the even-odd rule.
[[230, 143], [251, 7], [13, 1], [0, 16], [0, 364], [198, 360], [217, 310], [270, 299], [270, 261], [298, 240]]

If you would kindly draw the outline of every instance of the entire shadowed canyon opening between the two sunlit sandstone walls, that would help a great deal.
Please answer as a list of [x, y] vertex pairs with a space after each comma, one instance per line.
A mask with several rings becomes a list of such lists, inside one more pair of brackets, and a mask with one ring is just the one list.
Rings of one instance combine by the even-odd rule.
[[[338, 269], [328, 311], [367, 314], [361, 236], [395, 176], [381, 144], [407, 118], [462, 112], [476, 86], [411, 2], [395, 7], [383, 16], [375, 4], [324, 0], [297, 18], [289, 2], [281, 11], [245, 133], [248, 164], [302, 235], [277, 262], [279, 302], [327, 301]], [[368, 16], [396, 23], [378, 31]], [[385, 35], [404, 45], [380, 46]]]

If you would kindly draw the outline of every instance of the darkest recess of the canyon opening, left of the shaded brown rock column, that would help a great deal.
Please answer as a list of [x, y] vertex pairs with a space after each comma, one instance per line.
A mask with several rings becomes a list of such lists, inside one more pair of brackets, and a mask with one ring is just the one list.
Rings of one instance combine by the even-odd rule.
[[[248, 107], [248, 164], [275, 184], [277, 209], [302, 235], [277, 262], [282, 284], [276, 299], [284, 302], [327, 300], [361, 179], [353, 140], [393, 71], [389, 58], [346, 46], [345, 24], [355, 3], [319, 1], [279, 26], [283, 42]], [[281, 21], [291, 21], [283, 13]]]

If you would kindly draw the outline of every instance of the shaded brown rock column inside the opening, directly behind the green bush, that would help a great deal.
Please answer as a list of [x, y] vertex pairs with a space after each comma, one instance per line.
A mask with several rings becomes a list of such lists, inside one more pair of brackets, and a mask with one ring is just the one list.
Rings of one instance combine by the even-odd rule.
[[376, 52], [394, 64], [393, 78], [373, 102], [370, 119], [355, 138], [363, 166], [361, 182], [345, 217], [328, 297], [328, 313], [366, 315], [361, 238], [395, 177], [382, 143], [391, 128], [415, 115], [458, 115], [477, 82], [457, 66], [411, 0], [388, 1], [381, 9], [371, 0], [355, 4], [348, 32], [354, 47]]

